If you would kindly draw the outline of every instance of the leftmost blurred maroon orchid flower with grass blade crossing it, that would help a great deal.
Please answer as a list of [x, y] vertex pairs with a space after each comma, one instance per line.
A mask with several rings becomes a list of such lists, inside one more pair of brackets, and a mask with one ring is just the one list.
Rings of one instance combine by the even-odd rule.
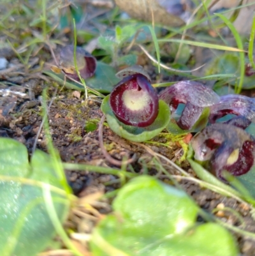
[[[60, 53], [60, 68], [66, 75], [69, 75], [72, 79], [80, 80], [75, 70], [74, 63], [74, 47], [73, 45], [67, 45], [61, 49]], [[82, 47], [76, 49], [77, 67], [80, 72], [80, 77], [87, 79], [92, 77], [96, 72], [96, 58], [89, 54]]]

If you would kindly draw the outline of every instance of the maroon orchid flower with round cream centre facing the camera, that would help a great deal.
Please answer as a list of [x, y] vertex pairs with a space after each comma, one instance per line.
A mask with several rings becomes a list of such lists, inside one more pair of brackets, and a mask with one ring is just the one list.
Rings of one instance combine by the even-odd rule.
[[[124, 124], [146, 127], [154, 122], [159, 111], [159, 98], [150, 84], [149, 75], [136, 73], [137, 66], [117, 73], [124, 77], [110, 94], [113, 113]], [[139, 70], [140, 68], [138, 68]]]

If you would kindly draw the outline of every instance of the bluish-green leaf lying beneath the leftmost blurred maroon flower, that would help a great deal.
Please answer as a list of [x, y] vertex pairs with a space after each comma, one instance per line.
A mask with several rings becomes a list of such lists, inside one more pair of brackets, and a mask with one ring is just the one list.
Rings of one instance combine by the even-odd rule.
[[[63, 74], [58, 75], [52, 71], [45, 71], [43, 73], [55, 79], [55, 81], [62, 86], [64, 85], [69, 89], [84, 91], [84, 86], [81, 86], [76, 82], [73, 82], [71, 80], [66, 80], [65, 82]], [[99, 91], [100, 93], [110, 93], [113, 86], [115, 86], [115, 84], [119, 82], [119, 79], [115, 77], [115, 73], [115, 69], [112, 68], [112, 66], [98, 61], [95, 75], [85, 80], [86, 86], [89, 86], [92, 89]]]

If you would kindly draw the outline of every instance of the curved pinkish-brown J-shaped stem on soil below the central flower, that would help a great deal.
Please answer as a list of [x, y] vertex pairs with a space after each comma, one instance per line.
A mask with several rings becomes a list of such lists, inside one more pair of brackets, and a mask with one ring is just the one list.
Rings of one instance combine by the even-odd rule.
[[133, 163], [135, 161], [135, 157], [136, 157], [135, 155], [133, 156], [133, 158], [130, 158], [129, 160], [119, 161], [119, 160], [112, 158], [112, 156], [110, 156], [110, 154], [106, 151], [105, 146], [103, 144], [103, 123], [104, 122], [105, 122], [105, 115], [103, 115], [101, 117], [101, 121], [99, 123], [98, 140], [99, 140], [99, 146], [100, 146], [101, 151], [102, 151], [103, 155], [105, 156], [106, 160], [108, 160], [113, 165], [117, 165], [117, 166], [129, 165], [129, 163]]

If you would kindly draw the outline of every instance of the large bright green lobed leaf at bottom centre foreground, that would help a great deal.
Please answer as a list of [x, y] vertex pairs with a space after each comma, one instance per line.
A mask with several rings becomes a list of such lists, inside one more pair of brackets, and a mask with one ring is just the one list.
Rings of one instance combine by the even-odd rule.
[[154, 177], [126, 184], [113, 210], [92, 234], [94, 256], [238, 255], [230, 232], [215, 223], [196, 223], [199, 207], [193, 200]]

